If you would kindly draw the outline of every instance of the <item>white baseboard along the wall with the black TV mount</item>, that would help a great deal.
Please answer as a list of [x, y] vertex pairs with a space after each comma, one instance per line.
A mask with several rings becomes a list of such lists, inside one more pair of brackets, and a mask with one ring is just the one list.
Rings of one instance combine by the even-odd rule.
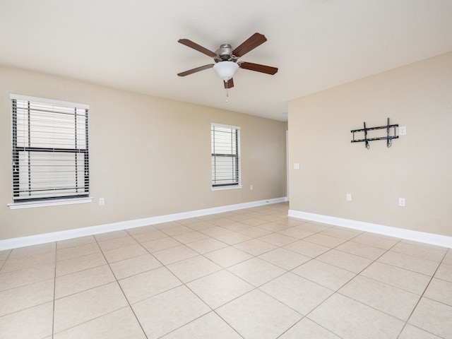
[[289, 210], [288, 215], [292, 218], [322, 222], [324, 224], [342, 226], [352, 228], [354, 230], [384, 234], [391, 237], [412, 240], [415, 242], [424, 242], [425, 244], [433, 244], [437, 246], [452, 248], [452, 237], [448, 237], [446, 235], [406, 230], [404, 228], [377, 225], [370, 222], [335, 218], [328, 215], [301, 212], [299, 210]]

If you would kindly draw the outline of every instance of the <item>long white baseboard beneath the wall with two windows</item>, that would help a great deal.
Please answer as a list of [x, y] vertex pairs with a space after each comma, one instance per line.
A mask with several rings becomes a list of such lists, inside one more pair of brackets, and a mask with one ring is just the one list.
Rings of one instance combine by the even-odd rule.
[[61, 240], [73, 239], [77, 237], [85, 237], [87, 235], [101, 234], [119, 230], [128, 230], [134, 227], [142, 227], [147, 225], [160, 224], [162, 222], [170, 222], [182, 219], [196, 218], [203, 215], [229, 212], [231, 210], [241, 210], [244, 208], [252, 208], [264, 206], [271, 203], [283, 203], [287, 201], [287, 197], [273, 198], [261, 201], [251, 201], [249, 203], [237, 203], [235, 205], [220, 206], [214, 208], [206, 208], [203, 210], [191, 210], [189, 212], [174, 213], [169, 215], [159, 215], [156, 217], [128, 220], [121, 222], [113, 222], [111, 224], [97, 225], [91, 227], [77, 228], [75, 230], [67, 230], [60, 232], [52, 232], [45, 234], [30, 235], [28, 237], [19, 237], [13, 239], [0, 240], [0, 251], [4, 249], [16, 249], [18, 247], [31, 246], [37, 244], [45, 244], [48, 242], [59, 242]]

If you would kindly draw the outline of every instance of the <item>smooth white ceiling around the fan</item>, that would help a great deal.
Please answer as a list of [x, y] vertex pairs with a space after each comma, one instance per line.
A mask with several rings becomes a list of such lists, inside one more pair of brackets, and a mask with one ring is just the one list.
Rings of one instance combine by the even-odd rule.
[[[254, 32], [229, 101], [215, 51]], [[287, 101], [452, 51], [452, 0], [0, 0], [0, 64], [287, 120]], [[27, 93], [23, 93], [27, 94]]]

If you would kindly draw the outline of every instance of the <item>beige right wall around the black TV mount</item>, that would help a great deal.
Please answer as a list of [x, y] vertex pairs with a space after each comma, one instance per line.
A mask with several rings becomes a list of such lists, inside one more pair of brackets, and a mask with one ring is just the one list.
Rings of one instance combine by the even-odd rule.
[[[391, 148], [350, 143], [388, 117]], [[292, 100], [289, 162], [291, 210], [452, 236], [452, 53]]]

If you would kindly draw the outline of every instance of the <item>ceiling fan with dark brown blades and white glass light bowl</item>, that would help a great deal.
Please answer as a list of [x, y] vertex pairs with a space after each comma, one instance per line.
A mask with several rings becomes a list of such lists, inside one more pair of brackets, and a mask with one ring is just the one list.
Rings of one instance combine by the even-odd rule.
[[215, 61], [215, 64], [199, 66], [196, 67], [196, 69], [189, 69], [189, 71], [184, 71], [182, 73], [178, 73], [177, 75], [188, 76], [205, 69], [213, 68], [215, 72], [218, 73], [220, 78], [222, 78], [225, 88], [234, 87], [232, 76], [234, 76], [234, 73], [239, 68], [273, 75], [278, 72], [278, 68], [261, 64], [253, 64], [246, 61], [238, 61], [240, 57], [243, 57], [246, 53], [250, 52], [266, 41], [267, 38], [264, 35], [262, 35], [261, 33], [254, 33], [254, 35], [251, 35], [251, 37], [242, 42], [239, 47], [232, 49], [230, 44], [221, 44], [219, 49], [217, 49], [215, 52], [212, 52], [209, 49], [206, 49], [205, 47], [202, 47], [201, 45], [196, 44], [196, 42], [193, 42], [189, 39], [179, 39], [177, 42], [184, 44], [187, 47], [196, 49], [196, 51], [206, 54], [208, 57], [212, 57]]

